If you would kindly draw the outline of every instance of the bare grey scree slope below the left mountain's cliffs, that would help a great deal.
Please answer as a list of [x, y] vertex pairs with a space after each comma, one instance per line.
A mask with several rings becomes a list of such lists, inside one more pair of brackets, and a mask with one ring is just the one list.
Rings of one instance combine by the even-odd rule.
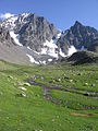
[[[0, 59], [20, 64], [45, 64], [53, 58], [48, 55], [39, 55], [28, 47], [17, 45], [19, 39], [11, 37], [11, 32], [2, 23], [0, 24]], [[20, 44], [20, 41], [19, 41]]]

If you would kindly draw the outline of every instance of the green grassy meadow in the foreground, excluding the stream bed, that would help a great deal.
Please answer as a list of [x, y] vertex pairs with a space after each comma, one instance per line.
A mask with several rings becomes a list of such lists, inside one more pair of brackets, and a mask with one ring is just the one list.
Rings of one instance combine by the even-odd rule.
[[[82, 73], [78, 75], [78, 73]], [[83, 110], [83, 105], [98, 106], [98, 100], [78, 94], [51, 91], [61, 105], [48, 102], [38, 86], [26, 86], [26, 97], [20, 97], [21, 83], [30, 76], [47, 85], [74, 86], [77, 92], [98, 92], [98, 67], [20, 67], [0, 62], [0, 131], [97, 131], [98, 110]], [[63, 75], [73, 80], [63, 79]], [[44, 78], [44, 80], [41, 80]], [[58, 82], [58, 78], [61, 81]], [[76, 80], [76, 81], [75, 81]], [[88, 83], [84, 86], [84, 83]], [[95, 83], [95, 87], [91, 84]], [[68, 100], [68, 103], [65, 103]], [[81, 106], [78, 106], [78, 104]], [[74, 115], [77, 114], [77, 116]], [[79, 116], [91, 114], [93, 116]]]

